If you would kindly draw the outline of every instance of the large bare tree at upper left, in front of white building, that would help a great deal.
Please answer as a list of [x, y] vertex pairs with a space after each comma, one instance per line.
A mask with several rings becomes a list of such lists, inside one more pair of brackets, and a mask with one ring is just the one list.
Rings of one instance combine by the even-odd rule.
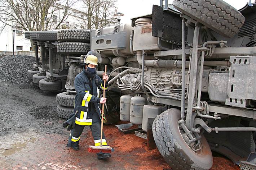
[[13, 25], [25, 31], [57, 29], [72, 13], [74, 3], [75, 0], [0, 0], [0, 31]]

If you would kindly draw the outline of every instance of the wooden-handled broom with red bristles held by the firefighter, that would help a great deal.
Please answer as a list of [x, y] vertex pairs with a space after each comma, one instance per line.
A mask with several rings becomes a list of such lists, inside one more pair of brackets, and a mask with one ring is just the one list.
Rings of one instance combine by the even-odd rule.
[[[105, 65], [105, 74], [107, 74], [107, 65]], [[103, 97], [105, 97], [105, 86], [106, 86], [106, 81], [104, 80]], [[102, 112], [101, 112], [101, 144], [100, 144], [100, 146], [89, 146], [88, 152], [111, 153], [112, 148], [110, 146], [102, 146], [103, 115], [104, 115], [104, 104], [102, 104]]]

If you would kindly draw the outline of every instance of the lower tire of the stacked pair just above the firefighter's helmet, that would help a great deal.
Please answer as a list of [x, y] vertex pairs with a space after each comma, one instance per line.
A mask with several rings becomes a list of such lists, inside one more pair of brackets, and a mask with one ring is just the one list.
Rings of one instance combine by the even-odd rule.
[[90, 51], [90, 44], [84, 42], [62, 42], [57, 44], [59, 54], [84, 54]]

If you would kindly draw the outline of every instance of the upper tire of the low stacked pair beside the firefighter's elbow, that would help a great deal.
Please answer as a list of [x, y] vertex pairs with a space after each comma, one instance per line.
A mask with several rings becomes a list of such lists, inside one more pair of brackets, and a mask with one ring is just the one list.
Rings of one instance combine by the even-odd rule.
[[75, 95], [67, 95], [67, 92], [59, 93], [56, 96], [57, 104], [61, 106], [75, 106]]

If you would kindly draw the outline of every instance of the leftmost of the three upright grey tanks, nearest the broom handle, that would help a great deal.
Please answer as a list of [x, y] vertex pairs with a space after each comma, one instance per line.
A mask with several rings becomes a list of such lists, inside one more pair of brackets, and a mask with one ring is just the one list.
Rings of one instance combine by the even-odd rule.
[[132, 96], [130, 95], [123, 95], [120, 97], [120, 120], [130, 120], [131, 98]]

